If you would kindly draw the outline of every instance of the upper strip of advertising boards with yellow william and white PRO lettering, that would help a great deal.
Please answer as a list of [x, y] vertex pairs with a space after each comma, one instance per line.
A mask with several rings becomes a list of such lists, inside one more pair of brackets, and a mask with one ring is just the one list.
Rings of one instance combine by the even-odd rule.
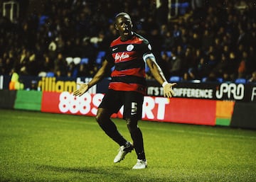
[[[9, 89], [10, 76], [1, 76], [0, 89]], [[29, 89], [32, 80], [37, 81], [38, 91], [73, 92], [77, 88], [76, 83], [88, 82], [90, 78], [78, 77], [38, 77], [21, 76], [25, 89]], [[110, 79], [102, 80], [90, 93], [105, 93]], [[147, 81], [147, 96], [163, 96], [163, 88], [156, 81]], [[234, 83], [192, 83], [178, 82], [174, 87], [176, 98], [201, 98], [220, 101], [256, 102], [256, 84]]]

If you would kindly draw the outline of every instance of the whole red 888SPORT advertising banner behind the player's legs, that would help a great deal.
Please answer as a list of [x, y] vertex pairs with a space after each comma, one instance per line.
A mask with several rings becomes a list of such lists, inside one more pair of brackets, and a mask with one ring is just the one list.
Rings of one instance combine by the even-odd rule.
[[[85, 93], [75, 97], [67, 91], [44, 91], [41, 110], [48, 113], [95, 116], [102, 98], [102, 93]], [[215, 125], [215, 115], [216, 101], [213, 100], [145, 96], [142, 120]], [[122, 108], [113, 117], [122, 118]]]

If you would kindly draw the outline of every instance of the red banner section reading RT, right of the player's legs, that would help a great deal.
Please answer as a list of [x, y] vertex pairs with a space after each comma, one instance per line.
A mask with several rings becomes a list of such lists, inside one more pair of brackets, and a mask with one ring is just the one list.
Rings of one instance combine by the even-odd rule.
[[189, 98], [145, 97], [144, 120], [215, 125], [216, 101]]

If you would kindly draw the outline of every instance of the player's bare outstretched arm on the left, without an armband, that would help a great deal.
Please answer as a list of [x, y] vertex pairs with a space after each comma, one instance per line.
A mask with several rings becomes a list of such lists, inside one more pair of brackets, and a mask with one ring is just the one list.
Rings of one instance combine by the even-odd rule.
[[99, 81], [101, 81], [107, 74], [107, 72], [110, 71], [112, 65], [105, 60], [102, 63], [102, 67], [97, 71], [95, 76], [93, 76], [92, 80], [87, 84], [78, 84], [80, 88], [76, 91], [74, 91], [73, 96], [82, 96], [85, 92], [87, 92], [92, 86], [97, 84]]

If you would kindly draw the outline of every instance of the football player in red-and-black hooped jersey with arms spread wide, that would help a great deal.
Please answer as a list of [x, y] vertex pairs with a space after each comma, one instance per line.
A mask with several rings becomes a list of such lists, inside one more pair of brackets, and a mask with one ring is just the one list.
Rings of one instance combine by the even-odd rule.
[[[146, 93], [145, 62], [156, 79], [164, 87], [164, 96], [174, 96], [172, 86], [166, 81], [163, 72], [151, 53], [151, 45], [142, 36], [132, 31], [132, 20], [127, 13], [119, 13], [115, 19], [115, 28], [119, 31], [119, 38], [110, 45], [110, 54], [102, 62], [102, 67], [87, 84], [78, 84], [80, 89], [73, 93], [82, 96], [90, 87], [102, 80], [114, 66], [108, 91], [102, 98], [97, 110], [96, 120], [102, 130], [119, 144], [119, 152], [114, 163], [122, 161], [125, 155], [135, 149], [137, 164], [132, 169], [145, 169], [146, 156], [142, 131], [138, 127], [138, 120], [142, 119], [142, 104]], [[128, 142], [118, 132], [116, 125], [110, 120], [113, 113], [117, 113], [124, 106], [123, 118], [133, 140]]]

